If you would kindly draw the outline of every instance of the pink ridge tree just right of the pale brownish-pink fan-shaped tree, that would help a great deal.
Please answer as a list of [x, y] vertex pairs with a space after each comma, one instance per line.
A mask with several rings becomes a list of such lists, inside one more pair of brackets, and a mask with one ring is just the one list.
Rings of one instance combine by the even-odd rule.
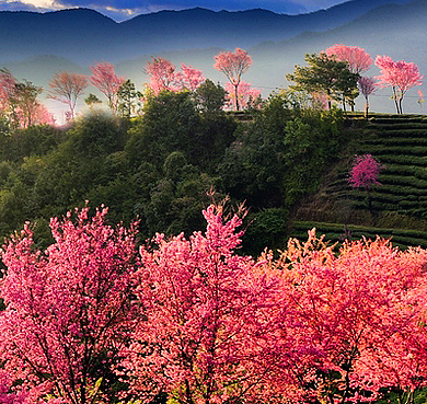
[[114, 65], [106, 61], [96, 62], [91, 70], [91, 83], [107, 97], [109, 109], [117, 113], [117, 92], [126, 79], [117, 77]]

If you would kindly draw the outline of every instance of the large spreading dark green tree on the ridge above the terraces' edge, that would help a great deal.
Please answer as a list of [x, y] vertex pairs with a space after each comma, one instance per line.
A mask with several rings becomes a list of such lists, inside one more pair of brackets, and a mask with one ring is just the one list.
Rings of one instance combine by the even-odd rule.
[[295, 72], [286, 74], [287, 80], [293, 81], [291, 89], [309, 93], [324, 93], [331, 100], [343, 102], [354, 100], [357, 93], [358, 73], [348, 69], [348, 64], [328, 57], [325, 53], [305, 54], [309, 66], [296, 66]]

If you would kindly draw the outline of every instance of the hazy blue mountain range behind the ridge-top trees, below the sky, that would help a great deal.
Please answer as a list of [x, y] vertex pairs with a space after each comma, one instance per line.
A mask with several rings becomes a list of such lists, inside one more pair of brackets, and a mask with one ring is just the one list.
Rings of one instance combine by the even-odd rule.
[[[285, 74], [295, 64], [303, 64], [305, 53], [336, 43], [361, 46], [373, 58], [385, 54], [415, 61], [427, 73], [426, 26], [426, 0], [353, 0], [300, 15], [265, 10], [161, 11], [122, 23], [89, 9], [0, 12], [0, 67], [47, 86], [59, 70], [90, 73], [90, 65], [106, 60], [141, 86], [147, 59], [162, 55], [223, 81], [212, 68], [214, 56], [242, 47], [254, 60], [245, 80], [266, 95], [287, 85]], [[372, 68], [374, 74], [378, 70]], [[385, 97], [382, 101], [393, 106]]]

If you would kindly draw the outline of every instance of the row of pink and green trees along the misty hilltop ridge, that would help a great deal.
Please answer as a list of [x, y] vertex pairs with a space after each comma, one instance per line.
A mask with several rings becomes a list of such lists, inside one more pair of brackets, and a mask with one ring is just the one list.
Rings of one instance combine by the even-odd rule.
[[[229, 105], [236, 111], [253, 105], [261, 96], [261, 91], [242, 80], [242, 76], [253, 62], [247, 51], [236, 48], [234, 51], [218, 54], [215, 60], [214, 67], [228, 79], [224, 90]], [[393, 61], [388, 56], [376, 58], [374, 64], [380, 68], [380, 76], [362, 77], [361, 73], [371, 67], [372, 58], [358, 46], [336, 44], [319, 55], [305, 55], [305, 61], [308, 67], [296, 66], [295, 72], [287, 74], [287, 79], [295, 82], [292, 89], [307, 91], [313, 103], [323, 107], [331, 107], [332, 101], [342, 103], [344, 108], [346, 103], [354, 107], [355, 99], [361, 93], [366, 97], [368, 111], [369, 95], [378, 86], [390, 86], [396, 112], [401, 114], [405, 94], [411, 88], [420, 85], [423, 79], [415, 64]], [[205, 81], [200, 70], [183, 64], [182, 71], [177, 71], [176, 66], [162, 57], [147, 62], [145, 71], [149, 74], [149, 82], [142, 93], [136, 91], [130, 80], [118, 77], [113, 64], [96, 62], [91, 66], [91, 70], [89, 80], [84, 74], [58, 72], [49, 82], [48, 97], [67, 104], [68, 120], [74, 118], [77, 101], [88, 88], [89, 81], [105, 95], [108, 108], [123, 116], [130, 116], [139, 111], [141, 103], [150, 94], [157, 95], [160, 91], [193, 92]], [[15, 127], [53, 124], [53, 115], [37, 100], [42, 91], [42, 88], [31, 82], [19, 82], [5, 69], [0, 71], [0, 108]], [[419, 97], [423, 99], [423, 94], [419, 94]], [[92, 108], [100, 104], [101, 100], [91, 93], [85, 102]]]

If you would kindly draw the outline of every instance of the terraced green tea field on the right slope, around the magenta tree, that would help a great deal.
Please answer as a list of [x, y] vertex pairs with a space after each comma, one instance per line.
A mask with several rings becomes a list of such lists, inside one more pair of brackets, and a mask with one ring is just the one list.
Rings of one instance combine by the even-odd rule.
[[320, 193], [300, 207], [290, 235], [305, 239], [315, 227], [331, 241], [379, 234], [402, 247], [427, 247], [427, 117], [373, 116], [356, 153], [370, 153], [383, 165], [382, 185], [369, 195], [351, 188], [353, 161], [341, 162]]

